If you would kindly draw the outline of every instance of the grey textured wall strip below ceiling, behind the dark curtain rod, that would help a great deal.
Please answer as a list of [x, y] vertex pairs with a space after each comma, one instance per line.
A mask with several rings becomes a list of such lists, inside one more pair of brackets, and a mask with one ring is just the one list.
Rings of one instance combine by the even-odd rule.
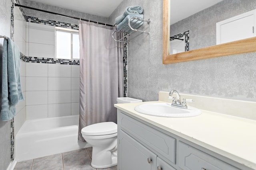
[[[46, 10], [46, 11], [50, 11], [50, 12], [56, 12], [56, 13], [64, 14], [64, 15], [67, 15], [67, 16], [74, 16], [74, 17], [83, 18], [83, 19], [86, 19], [86, 20], [108, 23], [107, 22], [108, 18], [101, 17], [101, 16], [96, 16], [96, 15], [91, 15], [91, 14], [86, 14], [86, 13], [82, 13], [82, 12], [77, 12], [77, 11], [74, 11], [74, 10], [68, 10], [68, 9], [65, 9], [65, 8], [60, 8], [58, 6], [50, 6], [50, 5], [46, 5], [46, 4], [42, 4], [42, 3], [38, 3], [38, 2], [32, 2], [32, 1], [29, 1], [29, 0], [20, 0], [20, 3], [24, 6], [29, 6], [29, 7], [32, 7], [32, 8], [37, 8], [37, 9]], [[40, 11], [36, 11], [36, 10], [30, 10], [30, 9], [27, 9], [27, 8], [23, 8], [23, 9], [24, 9], [24, 12], [25, 12], [26, 16], [32, 16], [32, 17], [37, 17], [37, 18], [40, 18], [40, 19], [47, 19], [47, 20], [54, 20], [54, 21], [62, 21], [62, 22], [72, 23], [72, 24], [77, 24], [78, 25], [78, 20], [76, 20], [76, 19], [57, 16], [57, 15], [54, 15], [54, 14], [49, 14], [49, 13], [40, 12]]]

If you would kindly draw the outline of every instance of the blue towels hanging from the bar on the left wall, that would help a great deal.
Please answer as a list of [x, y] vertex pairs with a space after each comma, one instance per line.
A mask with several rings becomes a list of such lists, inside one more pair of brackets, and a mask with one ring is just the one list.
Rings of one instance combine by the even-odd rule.
[[2, 68], [1, 120], [8, 121], [16, 115], [15, 105], [24, 100], [20, 85], [20, 50], [9, 37], [4, 39]]

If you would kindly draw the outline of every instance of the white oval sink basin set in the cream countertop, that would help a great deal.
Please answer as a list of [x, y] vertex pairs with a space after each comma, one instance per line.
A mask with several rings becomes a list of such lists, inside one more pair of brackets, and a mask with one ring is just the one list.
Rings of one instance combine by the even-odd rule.
[[141, 104], [136, 106], [134, 110], [147, 115], [163, 117], [191, 117], [200, 115], [202, 113], [195, 107], [188, 106], [188, 109], [180, 109], [173, 107], [168, 103]]

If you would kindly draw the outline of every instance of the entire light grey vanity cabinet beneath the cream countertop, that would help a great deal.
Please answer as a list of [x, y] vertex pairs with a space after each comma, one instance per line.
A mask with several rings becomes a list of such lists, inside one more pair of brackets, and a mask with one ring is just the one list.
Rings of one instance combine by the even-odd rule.
[[[118, 109], [118, 170], [239, 170], [236, 162]], [[225, 162], [224, 162], [225, 161]], [[228, 163], [227, 163], [227, 162]], [[231, 163], [230, 163], [231, 162]], [[244, 168], [248, 169], [248, 168]]]

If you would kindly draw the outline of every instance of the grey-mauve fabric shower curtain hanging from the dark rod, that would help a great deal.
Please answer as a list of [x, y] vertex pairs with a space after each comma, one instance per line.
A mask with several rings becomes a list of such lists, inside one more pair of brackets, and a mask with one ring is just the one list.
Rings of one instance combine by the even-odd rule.
[[[116, 27], [79, 22], [81, 129], [94, 123], [116, 123], [116, 98], [123, 96], [123, 45], [114, 41]], [[121, 36], [121, 35], [120, 35]]]

